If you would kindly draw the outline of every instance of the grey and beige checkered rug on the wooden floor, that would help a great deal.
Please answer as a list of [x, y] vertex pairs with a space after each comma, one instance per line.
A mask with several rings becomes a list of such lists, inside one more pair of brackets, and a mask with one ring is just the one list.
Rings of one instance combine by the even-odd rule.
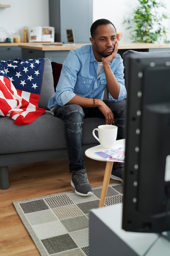
[[[93, 195], [74, 192], [13, 202], [42, 256], [88, 256], [88, 214], [99, 207], [102, 186]], [[110, 184], [105, 207], [122, 202], [123, 184]]]

